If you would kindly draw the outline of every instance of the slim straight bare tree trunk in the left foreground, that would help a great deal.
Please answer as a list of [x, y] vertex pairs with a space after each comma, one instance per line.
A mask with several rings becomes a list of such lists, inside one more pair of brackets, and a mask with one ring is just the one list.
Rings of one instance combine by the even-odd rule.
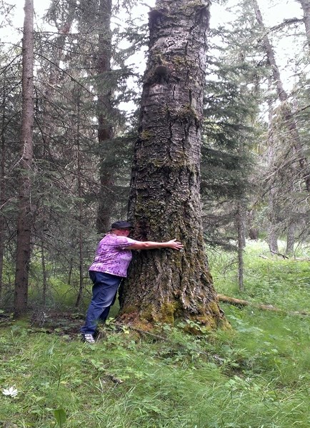
[[23, 75], [21, 111], [21, 158], [19, 179], [19, 215], [17, 220], [14, 315], [26, 312], [28, 275], [31, 257], [31, 166], [33, 158], [32, 126], [34, 122], [34, 1], [25, 0], [23, 37]]

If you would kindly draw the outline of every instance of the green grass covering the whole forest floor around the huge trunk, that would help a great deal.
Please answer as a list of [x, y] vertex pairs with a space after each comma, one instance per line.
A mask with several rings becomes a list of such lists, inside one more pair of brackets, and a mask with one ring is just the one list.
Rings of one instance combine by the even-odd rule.
[[[309, 312], [303, 262], [260, 255], [246, 254], [243, 293], [229, 256], [211, 260], [217, 290]], [[221, 307], [231, 331], [141, 336], [109, 322], [96, 345], [71, 334], [81, 320], [57, 320], [59, 330], [3, 323], [0, 393], [19, 392], [1, 395], [0, 427], [309, 427], [309, 318]]]

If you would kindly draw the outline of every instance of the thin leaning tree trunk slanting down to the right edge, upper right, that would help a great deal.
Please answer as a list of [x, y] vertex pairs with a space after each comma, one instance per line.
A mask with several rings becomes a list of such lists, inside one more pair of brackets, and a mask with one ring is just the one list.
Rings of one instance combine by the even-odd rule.
[[[252, 0], [252, 2], [254, 5], [254, 11], [256, 14], [257, 22], [259, 23], [259, 26], [261, 26], [261, 29], [265, 31], [264, 21], [261, 15], [261, 11], [259, 9], [259, 4], [257, 3], [256, 0]], [[269, 65], [271, 66], [272, 74], [274, 77], [274, 83], [276, 84], [276, 91], [278, 93], [279, 100], [281, 101], [281, 103], [283, 103], [284, 119], [286, 121], [286, 127], [291, 136], [291, 144], [294, 147], [294, 150], [296, 151], [297, 158], [299, 159], [301, 176], [303, 177], [304, 183], [306, 184], [306, 190], [310, 192], [310, 168], [309, 168], [308, 160], [304, 155], [304, 149], [302, 147], [302, 144], [299, 138], [299, 131], [296, 126], [294, 115], [291, 111], [291, 106], [289, 104], [289, 97], [286, 91], [284, 90], [284, 86], [281, 81], [279, 67], [276, 64], [276, 57], [274, 55], [274, 49], [271, 46], [268, 36], [265, 35], [263, 36], [262, 39], [263, 39], [264, 49], [266, 50], [266, 55], [269, 61]]]

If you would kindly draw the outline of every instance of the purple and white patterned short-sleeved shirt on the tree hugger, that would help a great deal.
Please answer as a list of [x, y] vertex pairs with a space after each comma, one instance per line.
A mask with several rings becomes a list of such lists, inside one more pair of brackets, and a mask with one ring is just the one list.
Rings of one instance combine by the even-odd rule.
[[126, 238], [126, 236], [108, 233], [99, 242], [94, 262], [89, 267], [89, 270], [126, 277], [132, 258], [131, 250], [126, 250], [126, 248], [137, 242], [131, 238]]

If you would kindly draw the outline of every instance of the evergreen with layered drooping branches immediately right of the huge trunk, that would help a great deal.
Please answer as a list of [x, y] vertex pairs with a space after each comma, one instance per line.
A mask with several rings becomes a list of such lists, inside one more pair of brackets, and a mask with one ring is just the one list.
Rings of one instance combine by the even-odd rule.
[[[223, 32], [223, 34], [221, 34]], [[259, 91], [253, 88], [256, 64], [234, 62], [227, 52], [231, 34], [219, 30], [227, 49], [213, 50], [204, 95], [204, 139], [201, 147], [201, 200], [208, 245], [231, 248], [236, 236], [238, 205], [246, 207], [254, 190], [253, 147], [259, 136]], [[215, 40], [215, 42], [214, 42]], [[256, 127], [254, 127], [256, 126]]]

